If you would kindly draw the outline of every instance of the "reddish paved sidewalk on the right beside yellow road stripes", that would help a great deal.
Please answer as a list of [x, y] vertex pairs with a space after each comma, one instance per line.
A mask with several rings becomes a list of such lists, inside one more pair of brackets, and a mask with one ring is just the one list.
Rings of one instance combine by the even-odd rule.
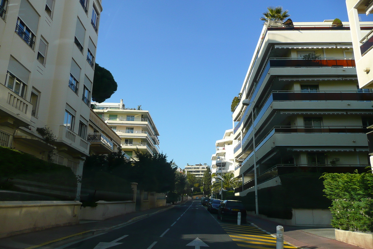
[[[335, 240], [334, 228], [298, 227], [279, 224], [247, 215], [247, 221], [276, 236], [276, 227], [284, 228], [284, 240], [307, 249], [358, 249], [360, 247]], [[361, 249], [361, 248], [360, 248]]]

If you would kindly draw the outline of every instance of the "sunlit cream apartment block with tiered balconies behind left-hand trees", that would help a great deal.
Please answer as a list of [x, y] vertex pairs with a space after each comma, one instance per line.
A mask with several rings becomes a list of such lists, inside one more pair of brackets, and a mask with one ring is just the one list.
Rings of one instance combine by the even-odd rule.
[[134, 151], [150, 155], [159, 154], [159, 133], [149, 111], [126, 108], [123, 99], [120, 103], [93, 103], [94, 112], [100, 116], [121, 138], [122, 151], [129, 157]]

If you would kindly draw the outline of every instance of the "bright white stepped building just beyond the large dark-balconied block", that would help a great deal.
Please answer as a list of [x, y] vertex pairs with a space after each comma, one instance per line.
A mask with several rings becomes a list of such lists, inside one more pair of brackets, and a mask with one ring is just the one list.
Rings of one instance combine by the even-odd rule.
[[233, 129], [226, 130], [223, 139], [217, 140], [215, 146], [216, 152], [211, 156], [211, 173], [233, 172], [235, 168]]

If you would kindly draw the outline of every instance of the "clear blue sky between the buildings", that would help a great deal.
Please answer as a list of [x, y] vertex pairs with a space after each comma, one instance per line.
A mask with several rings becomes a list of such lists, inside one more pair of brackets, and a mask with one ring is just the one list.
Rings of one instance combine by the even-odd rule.
[[104, 0], [96, 62], [118, 90], [106, 102], [149, 110], [160, 149], [179, 167], [211, 165], [215, 141], [232, 128], [267, 6], [294, 22], [348, 21], [344, 0]]

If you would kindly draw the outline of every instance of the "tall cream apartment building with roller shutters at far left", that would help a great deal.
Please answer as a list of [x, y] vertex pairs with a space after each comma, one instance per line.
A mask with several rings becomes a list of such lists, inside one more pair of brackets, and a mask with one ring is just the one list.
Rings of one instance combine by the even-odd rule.
[[[0, 145], [81, 174], [101, 0], [2, 0]], [[47, 142], [37, 128], [48, 127]]]

